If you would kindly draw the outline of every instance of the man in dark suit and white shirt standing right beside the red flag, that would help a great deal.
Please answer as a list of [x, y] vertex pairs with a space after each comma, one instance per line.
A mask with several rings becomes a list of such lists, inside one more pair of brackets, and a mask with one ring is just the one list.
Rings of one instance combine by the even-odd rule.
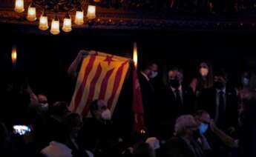
[[155, 102], [156, 95], [151, 79], [157, 76], [158, 66], [154, 62], [148, 62], [142, 65], [142, 69], [138, 74], [140, 81], [140, 90], [142, 93], [142, 103], [144, 109], [145, 125], [148, 129], [148, 133], [152, 133], [154, 130], [155, 119]]

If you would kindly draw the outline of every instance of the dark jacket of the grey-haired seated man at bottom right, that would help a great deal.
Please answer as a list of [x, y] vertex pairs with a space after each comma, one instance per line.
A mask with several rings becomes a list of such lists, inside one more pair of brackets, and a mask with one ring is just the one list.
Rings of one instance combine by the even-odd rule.
[[[194, 150], [193, 150], [194, 149]], [[194, 151], [197, 149], [202, 153], [198, 156]], [[164, 147], [165, 157], [203, 157], [203, 150], [197, 144], [197, 147], [192, 147], [185, 139], [181, 137], [173, 137], [166, 141]]]

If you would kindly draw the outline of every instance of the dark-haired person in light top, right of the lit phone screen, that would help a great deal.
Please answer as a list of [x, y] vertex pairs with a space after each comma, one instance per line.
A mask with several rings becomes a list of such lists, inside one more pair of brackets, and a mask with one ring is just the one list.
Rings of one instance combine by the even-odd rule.
[[59, 124], [53, 130], [53, 141], [41, 150], [41, 153], [47, 157], [72, 157], [72, 150], [67, 146], [70, 131], [65, 124]]

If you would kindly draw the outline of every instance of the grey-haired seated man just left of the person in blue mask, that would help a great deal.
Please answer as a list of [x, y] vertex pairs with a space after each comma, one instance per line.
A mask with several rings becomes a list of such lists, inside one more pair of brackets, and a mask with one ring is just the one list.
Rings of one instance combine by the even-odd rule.
[[191, 115], [183, 115], [177, 118], [175, 124], [175, 135], [165, 143], [166, 157], [203, 157], [200, 144], [197, 139], [198, 124]]

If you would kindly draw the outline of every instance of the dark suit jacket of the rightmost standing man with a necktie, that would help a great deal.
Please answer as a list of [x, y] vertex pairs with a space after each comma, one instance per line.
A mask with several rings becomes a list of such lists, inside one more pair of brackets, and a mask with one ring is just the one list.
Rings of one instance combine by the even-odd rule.
[[[211, 118], [215, 118], [216, 114], [216, 106], [217, 106], [217, 90], [212, 87], [206, 90], [202, 91], [202, 94], [200, 96], [199, 100], [199, 106], [197, 109], [199, 110], [206, 110]], [[237, 93], [232, 88], [226, 87], [226, 93], [225, 93], [225, 99], [226, 99], [226, 126], [224, 126], [221, 129], [227, 129], [227, 127], [233, 126], [237, 127], [237, 107], [238, 107], [238, 100], [237, 100]]]

